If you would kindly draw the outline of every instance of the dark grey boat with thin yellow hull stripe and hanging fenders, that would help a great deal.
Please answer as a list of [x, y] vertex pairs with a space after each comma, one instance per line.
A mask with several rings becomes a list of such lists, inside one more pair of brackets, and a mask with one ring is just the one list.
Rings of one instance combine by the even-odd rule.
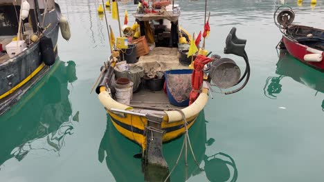
[[54, 0], [0, 0], [0, 115], [12, 108], [57, 58], [59, 28], [69, 24]]

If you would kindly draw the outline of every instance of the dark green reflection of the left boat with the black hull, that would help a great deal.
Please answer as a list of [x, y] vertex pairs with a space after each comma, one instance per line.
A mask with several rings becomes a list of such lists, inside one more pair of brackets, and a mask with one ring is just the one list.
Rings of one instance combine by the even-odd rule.
[[75, 63], [57, 59], [51, 71], [1, 116], [0, 166], [12, 157], [21, 161], [28, 153], [60, 154], [64, 137], [73, 134], [78, 121], [78, 112], [71, 117], [68, 89], [76, 79]]

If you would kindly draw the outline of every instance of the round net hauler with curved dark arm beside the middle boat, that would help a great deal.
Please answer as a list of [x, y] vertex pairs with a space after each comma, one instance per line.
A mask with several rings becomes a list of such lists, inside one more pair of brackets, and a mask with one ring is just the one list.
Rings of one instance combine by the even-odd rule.
[[235, 61], [229, 58], [222, 58], [217, 59], [213, 61], [210, 73], [208, 75], [209, 79], [213, 81], [213, 83], [218, 88], [231, 88], [243, 81], [244, 83], [240, 86], [240, 88], [237, 88], [230, 92], [224, 92], [224, 94], [233, 94], [235, 92], [238, 92], [242, 90], [246, 83], [249, 81], [250, 78], [250, 64], [249, 64], [249, 58], [247, 57], [247, 54], [245, 52], [245, 39], [239, 39], [236, 37], [236, 28], [233, 27], [231, 32], [229, 32], [227, 38], [226, 38], [226, 46], [224, 48], [225, 54], [235, 54], [239, 57], [243, 57], [246, 68], [244, 71], [244, 74], [241, 76], [240, 68], [236, 65]]

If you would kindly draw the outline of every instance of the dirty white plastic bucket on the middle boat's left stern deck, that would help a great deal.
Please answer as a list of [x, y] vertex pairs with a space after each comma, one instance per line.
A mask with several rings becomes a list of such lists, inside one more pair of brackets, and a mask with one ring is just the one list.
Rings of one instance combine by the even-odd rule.
[[126, 87], [125, 85], [123, 85], [122, 88], [116, 85], [115, 89], [116, 89], [116, 101], [118, 101], [118, 103], [129, 105], [133, 97], [133, 82], [127, 84]]

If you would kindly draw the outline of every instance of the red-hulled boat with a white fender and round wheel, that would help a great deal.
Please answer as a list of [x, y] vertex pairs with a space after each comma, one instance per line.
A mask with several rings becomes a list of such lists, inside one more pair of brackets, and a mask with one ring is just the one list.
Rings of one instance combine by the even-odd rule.
[[278, 47], [287, 49], [289, 54], [302, 63], [324, 72], [324, 30], [291, 24], [295, 17], [294, 11], [289, 6], [283, 7], [285, 8], [278, 12], [282, 8], [280, 6], [273, 16], [282, 32]]

